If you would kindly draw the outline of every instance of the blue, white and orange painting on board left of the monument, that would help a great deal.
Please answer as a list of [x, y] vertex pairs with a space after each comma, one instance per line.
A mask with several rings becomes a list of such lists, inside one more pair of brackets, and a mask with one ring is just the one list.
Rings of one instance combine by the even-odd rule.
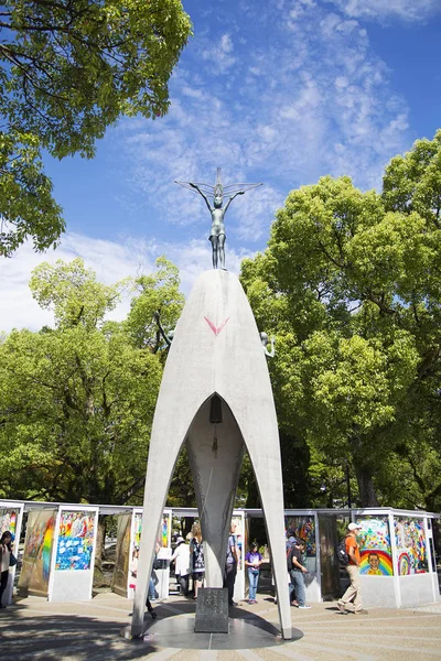
[[55, 570], [90, 570], [94, 535], [95, 512], [62, 511]]

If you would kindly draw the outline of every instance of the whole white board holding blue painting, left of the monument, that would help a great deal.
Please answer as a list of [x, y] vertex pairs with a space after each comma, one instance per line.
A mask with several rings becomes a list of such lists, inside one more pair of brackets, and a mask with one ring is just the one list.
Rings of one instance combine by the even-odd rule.
[[92, 599], [98, 507], [61, 506], [55, 523], [50, 602]]

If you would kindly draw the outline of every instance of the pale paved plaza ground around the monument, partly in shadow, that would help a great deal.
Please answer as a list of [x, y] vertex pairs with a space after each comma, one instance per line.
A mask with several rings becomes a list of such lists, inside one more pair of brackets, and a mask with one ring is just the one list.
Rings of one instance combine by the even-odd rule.
[[[300, 638], [276, 647], [236, 650], [182, 649], [179, 628], [194, 617], [194, 603], [179, 597], [157, 603], [158, 620], [174, 622], [174, 647], [161, 644], [160, 628], [150, 640], [126, 640], [120, 631], [130, 624], [131, 602], [112, 593], [92, 602], [51, 604], [28, 597], [0, 610], [0, 655], [10, 661], [427, 661], [441, 660], [441, 604], [418, 610], [370, 609], [367, 616], [341, 615], [335, 603], [315, 604], [311, 610], [292, 608]], [[235, 609], [236, 630], [265, 618], [278, 625], [272, 598], [257, 606], [241, 603]], [[170, 618], [170, 619], [169, 619]], [[150, 621], [150, 620], [149, 620]], [[152, 629], [154, 631], [154, 629]]]

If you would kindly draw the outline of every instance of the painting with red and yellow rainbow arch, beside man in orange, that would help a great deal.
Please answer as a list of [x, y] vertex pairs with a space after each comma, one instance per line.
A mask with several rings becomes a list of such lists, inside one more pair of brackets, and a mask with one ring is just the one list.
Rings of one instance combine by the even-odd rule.
[[362, 531], [357, 534], [362, 563], [361, 574], [392, 576], [394, 563], [388, 517], [358, 517]]

